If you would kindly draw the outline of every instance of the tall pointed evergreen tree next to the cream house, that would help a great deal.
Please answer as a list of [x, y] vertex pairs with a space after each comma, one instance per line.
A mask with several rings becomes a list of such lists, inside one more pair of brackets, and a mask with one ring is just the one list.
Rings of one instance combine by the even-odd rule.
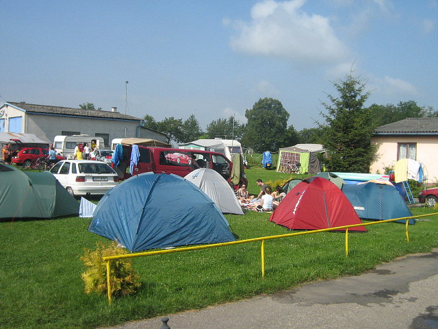
[[347, 75], [333, 83], [339, 96], [327, 95], [330, 103], [322, 103], [328, 114], [322, 145], [328, 152], [326, 166], [331, 171], [368, 173], [375, 148], [370, 138], [376, 128], [373, 112], [363, 104], [370, 97], [363, 80]]

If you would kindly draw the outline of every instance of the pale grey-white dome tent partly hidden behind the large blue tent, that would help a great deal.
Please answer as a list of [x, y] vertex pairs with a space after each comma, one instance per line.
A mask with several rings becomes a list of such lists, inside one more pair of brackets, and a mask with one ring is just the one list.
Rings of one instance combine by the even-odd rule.
[[196, 169], [185, 176], [218, 206], [221, 212], [244, 215], [242, 207], [234, 194], [233, 188], [222, 176], [213, 169]]

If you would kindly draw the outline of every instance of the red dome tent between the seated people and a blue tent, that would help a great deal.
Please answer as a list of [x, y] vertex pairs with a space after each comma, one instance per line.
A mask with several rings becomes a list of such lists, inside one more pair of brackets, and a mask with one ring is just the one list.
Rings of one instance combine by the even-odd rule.
[[[307, 178], [292, 188], [269, 220], [291, 230], [320, 230], [361, 223], [344, 193], [320, 177]], [[348, 230], [365, 232], [365, 227]]]

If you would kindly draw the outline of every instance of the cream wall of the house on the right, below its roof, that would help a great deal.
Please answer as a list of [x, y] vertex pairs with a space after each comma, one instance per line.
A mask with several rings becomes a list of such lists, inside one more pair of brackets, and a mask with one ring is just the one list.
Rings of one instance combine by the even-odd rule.
[[371, 143], [377, 151], [370, 167], [370, 173], [384, 173], [384, 167], [394, 167], [397, 161], [398, 143], [417, 143], [417, 158], [428, 176], [428, 184], [438, 181], [438, 136], [378, 136]]

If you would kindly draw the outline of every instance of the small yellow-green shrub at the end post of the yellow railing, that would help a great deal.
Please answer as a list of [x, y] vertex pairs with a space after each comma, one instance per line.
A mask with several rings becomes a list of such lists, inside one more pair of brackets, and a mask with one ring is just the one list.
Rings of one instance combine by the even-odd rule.
[[[105, 256], [128, 254], [127, 249], [119, 247], [116, 243], [105, 245], [96, 243], [96, 250], [84, 249], [85, 254], [81, 260], [87, 267], [81, 277], [85, 282], [86, 293], [107, 292], [107, 263], [102, 260]], [[141, 286], [140, 277], [134, 273], [129, 258], [112, 260], [111, 262], [111, 293], [114, 297], [123, 297], [136, 293]]]

